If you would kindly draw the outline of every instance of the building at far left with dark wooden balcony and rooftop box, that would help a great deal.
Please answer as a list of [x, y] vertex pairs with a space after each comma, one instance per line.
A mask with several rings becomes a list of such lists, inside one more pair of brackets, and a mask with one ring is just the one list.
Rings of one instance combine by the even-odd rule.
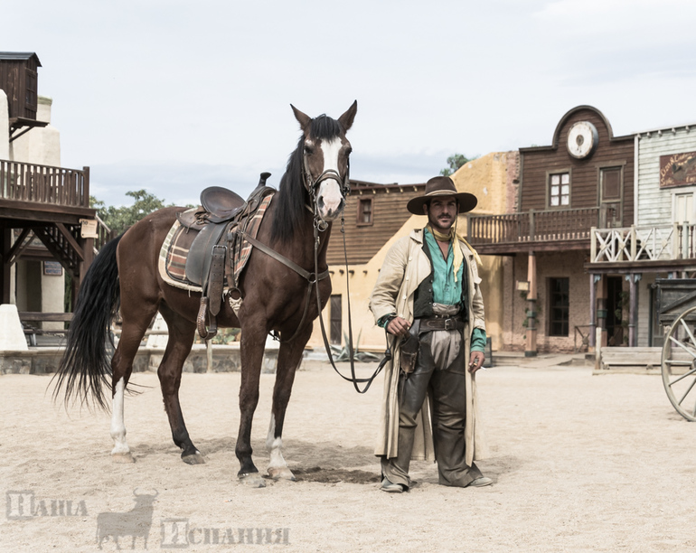
[[[19, 302], [26, 304], [21, 312], [27, 305], [32, 312], [21, 314], [24, 320], [60, 322], [64, 314], [34, 313], [42, 305], [32, 301], [42, 295], [42, 276], [64, 269], [72, 277], [74, 301], [110, 232], [89, 208], [89, 167], [60, 166], [60, 137], [50, 127], [52, 100], [37, 94], [39, 67], [33, 52], [0, 52], [0, 300], [28, 298]], [[18, 261], [30, 266], [21, 275]]]

